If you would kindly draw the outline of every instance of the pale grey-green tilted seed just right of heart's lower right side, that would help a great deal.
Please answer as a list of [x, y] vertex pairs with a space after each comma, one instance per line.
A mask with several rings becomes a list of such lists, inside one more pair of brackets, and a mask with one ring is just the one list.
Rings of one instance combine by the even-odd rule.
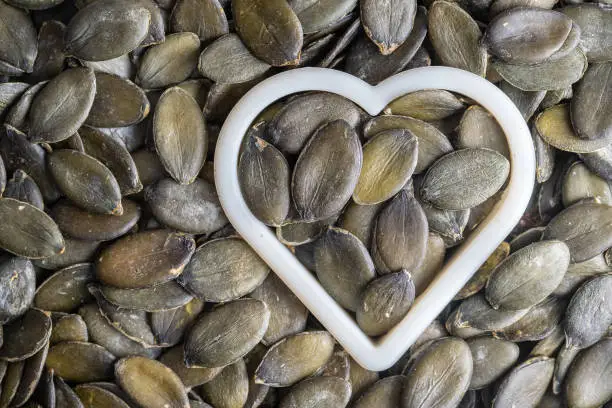
[[519, 249], [491, 274], [487, 300], [495, 309], [530, 308], [555, 290], [569, 264], [570, 250], [561, 241], [541, 241]]

